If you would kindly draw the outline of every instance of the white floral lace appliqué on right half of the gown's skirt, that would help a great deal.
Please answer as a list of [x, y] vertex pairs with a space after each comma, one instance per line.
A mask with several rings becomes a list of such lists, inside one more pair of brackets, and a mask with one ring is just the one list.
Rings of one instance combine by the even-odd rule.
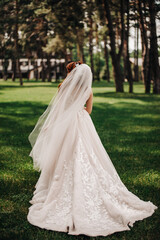
[[129, 217], [146, 213], [145, 210], [139, 211], [128, 205], [123, 201], [123, 197], [121, 199], [121, 190], [123, 193], [129, 191], [116, 172], [112, 177], [101, 166], [93, 149], [89, 154], [86, 153], [80, 135], [75, 161], [81, 163], [79, 171], [83, 183], [85, 212], [92, 227], [95, 226], [97, 230], [106, 230], [115, 225], [124, 227], [129, 223]]

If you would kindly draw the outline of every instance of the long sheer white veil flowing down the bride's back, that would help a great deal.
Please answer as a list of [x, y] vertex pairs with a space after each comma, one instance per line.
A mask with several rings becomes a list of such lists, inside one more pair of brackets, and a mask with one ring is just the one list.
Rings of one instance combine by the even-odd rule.
[[[87, 64], [76, 66], [67, 75], [47, 109], [38, 119], [28, 137], [32, 146], [29, 156], [33, 158], [36, 170], [49, 167], [51, 163], [54, 165], [69, 125], [74, 124], [76, 113], [83, 109], [89, 98], [91, 85], [90, 67]], [[73, 144], [72, 139], [70, 144]]]

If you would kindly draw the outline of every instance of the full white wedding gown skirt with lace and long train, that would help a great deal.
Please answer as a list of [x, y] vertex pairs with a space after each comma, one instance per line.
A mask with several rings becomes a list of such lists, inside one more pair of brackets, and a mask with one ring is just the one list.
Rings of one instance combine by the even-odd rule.
[[135, 221], [153, 214], [157, 207], [122, 183], [84, 105], [63, 127], [57, 142], [52, 138], [56, 128], [49, 131], [45, 148], [39, 148], [45, 149], [43, 158], [50, 151], [54, 160], [46, 160], [41, 169], [27, 216], [31, 224], [72, 235], [107, 236], [130, 230]]

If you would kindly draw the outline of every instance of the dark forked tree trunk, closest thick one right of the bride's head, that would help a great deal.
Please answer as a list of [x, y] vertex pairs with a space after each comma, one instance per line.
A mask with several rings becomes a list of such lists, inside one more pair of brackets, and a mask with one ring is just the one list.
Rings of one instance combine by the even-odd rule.
[[[115, 46], [115, 33], [113, 31], [113, 23], [109, 8], [109, 3], [107, 0], [104, 1], [105, 13], [106, 18], [108, 20], [108, 29], [109, 29], [109, 36], [110, 36], [110, 46], [111, 46], [111, 57], [112, 57], [112, 64], [114, 67], [114, 78], [116, 84], [116, 92], [123, 92], [123, 80], [124, 76], [120, 67], [120, 57], [122, 53], [122, 45], [123, 45], [123, 37], [121, 38], [121, 47], [119, 49], [119, 53], [116, 53], [116, 46]], [[122, 27], [123, 28], [123, 27]], [[123, 33], [122, 33], [123, 35]]]

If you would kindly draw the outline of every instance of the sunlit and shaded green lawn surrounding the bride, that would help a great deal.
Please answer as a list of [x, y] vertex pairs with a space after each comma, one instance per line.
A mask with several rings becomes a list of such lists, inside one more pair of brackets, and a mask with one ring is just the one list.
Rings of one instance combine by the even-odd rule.
[[[56, 91], [56, 83], [0, 82], [1, 165], [0, 239], [2, 240], [158, 240], [159, 209], [138, 221], [131, 231], [107, 237], [70, 236], [34, 227], [27, 222], [29, 200], [39, 173], [28, 156], [28, 135]], [[119, 176], [138, 197], [160, 206], [160, 96], [144, 94], [142, 84], [135, 93], [115, 93], [113, 83], [94, 83], [91, 114], [97, 132]]]

